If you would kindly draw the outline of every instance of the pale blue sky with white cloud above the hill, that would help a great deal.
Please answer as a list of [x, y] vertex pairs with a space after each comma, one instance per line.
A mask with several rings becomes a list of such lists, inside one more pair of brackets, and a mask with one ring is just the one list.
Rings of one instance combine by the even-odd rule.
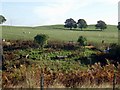
[[85, 19], [87, 24], [103, 20], [117, 25], [119, 0], [1, 0], [4, 25], [42, 26], [64, 24], [68, 18]]

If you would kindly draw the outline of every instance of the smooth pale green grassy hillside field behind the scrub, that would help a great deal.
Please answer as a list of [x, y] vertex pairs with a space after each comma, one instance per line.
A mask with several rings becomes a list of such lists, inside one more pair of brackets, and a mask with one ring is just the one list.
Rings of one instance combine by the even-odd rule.
[[108, 28], [104, 31], [96, 30], [94, 25], [89, 25], [83, 31], [80, 29], [69, 30], [64, 28], [63, 25], [39, 27], [2, 26], [2, 38], [5, 39], [31, 40], [40, 33], [47, 34], [50, 37], [49, 40], [76, 41], [82, 35], [91, 42], [105, 40], [106, 43], [115, 43], [118, 41], [118, 30], [115, 25], [108, 25]]

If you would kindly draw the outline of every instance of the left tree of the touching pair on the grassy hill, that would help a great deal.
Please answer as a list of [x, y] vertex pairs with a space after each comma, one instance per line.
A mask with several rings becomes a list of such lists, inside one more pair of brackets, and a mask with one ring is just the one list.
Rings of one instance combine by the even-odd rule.
[[77, 23], [72, 18], [70, 18], [65, 21], [64, 27], [70, 28], [71, 30], [72, 28], [77, 28]]

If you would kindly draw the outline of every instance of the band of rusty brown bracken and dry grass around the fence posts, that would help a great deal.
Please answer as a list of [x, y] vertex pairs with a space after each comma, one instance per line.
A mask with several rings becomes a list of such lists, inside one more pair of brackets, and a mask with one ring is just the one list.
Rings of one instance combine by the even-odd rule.
[[[112, 88], [112, 78], [113, 74], [112, 71], [112, 65], [107, 65], [104, 67], [104, 70], [99, 67], [98, 64], [95, 64], [94, 67], [94, 72], [91, 71], [92, 75], [92, 80], [90, 79], [90, 75], [88, 72], [71, 72], [71, 73], [62, 73], [62, 72], [53, 72], [49, 71], [46, 69], [41, 69], [37, 65], [32, 65], [31, 67], [26, 68], [24, 65], [20, 67], [20, 69], [15, 69], [13, 74], [7, 74], [8, 72], [4, 72], [6, 75], [8, 82], [4, 84], [6, 88], [40, 88], [40, 77], [41, 77], [41, 72], [44, 73], [44, 88]], [[16, 75], [18, 73], [18, 77], [14, 77], [11, 75]], [[108, 75], [106, 75], [108, 73]], [[94, 75], [95, 74], [95, 75]], [[119, 72], [117, 73], [117, 75]], [[5, 76], [4, 75], [4, 76]], [[100, 76], [99, 76], [100, 75]], [[102, 80], [106, 77], [105, 81]], [[110, 75], [110, 76], [109, 76]], [[24, 78], [24, 81], [20, 81], [15, 84], [12, 82], [16, 82], [17, 80], [23, 80], [21, 79], [22, 76]], [[119, 80], [119, 76], [117, 76]], [[98, 84], [97, 81], [101, 80], [100, 83]], [[120, 82], [117, 80], [117, 83], [119, 84]], [[9, 83], [10, 82], [10, 83]], [[120, 88], [120, 85], [116, 85], [116, 87]]]

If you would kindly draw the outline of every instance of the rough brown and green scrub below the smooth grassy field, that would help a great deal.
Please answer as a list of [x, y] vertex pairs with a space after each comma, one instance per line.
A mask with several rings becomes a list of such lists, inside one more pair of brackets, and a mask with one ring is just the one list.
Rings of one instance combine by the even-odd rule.
[[42, 75], [45, 88], [104, 84], [108, 85], [104, 88], [112, 88], [114, 74], [115, 85], [120, 87], [120, 64], [115, 61], [119, 55], [111, 58], [108, 53], [71, 42], [52, 41], [39, 49], [31, 40], [9, 40], [3, 42], [3, 48], [3, 88], [39, 88]]

